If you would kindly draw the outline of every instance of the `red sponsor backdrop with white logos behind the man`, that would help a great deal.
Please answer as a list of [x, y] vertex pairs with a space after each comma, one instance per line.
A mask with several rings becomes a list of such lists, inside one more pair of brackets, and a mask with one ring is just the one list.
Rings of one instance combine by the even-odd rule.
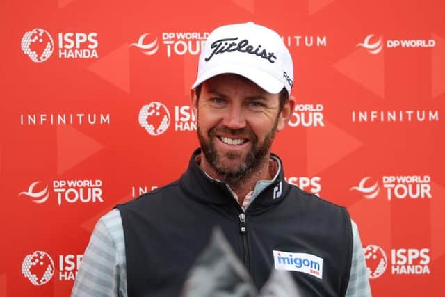
[[247, 21], [293, 56], [300, 105], [273, 150], [286, 178], [348, 207], [374, 296], [443, 296], [444, 11], [442, 0], [3, 1], [0, 296], [69, 296], [97, 219], [183, 172], [202, 42]]

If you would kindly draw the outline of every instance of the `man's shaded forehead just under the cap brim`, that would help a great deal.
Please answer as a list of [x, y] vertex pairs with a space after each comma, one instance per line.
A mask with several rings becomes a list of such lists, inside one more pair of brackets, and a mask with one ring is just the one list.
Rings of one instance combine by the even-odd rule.
[[245, 93], [250, 95], [270, 95], [260, 88], [256, 83], [238, 74], [220, 74], [204, 81], [202, 87], [207, 92], [218, 91], [219, 93]]

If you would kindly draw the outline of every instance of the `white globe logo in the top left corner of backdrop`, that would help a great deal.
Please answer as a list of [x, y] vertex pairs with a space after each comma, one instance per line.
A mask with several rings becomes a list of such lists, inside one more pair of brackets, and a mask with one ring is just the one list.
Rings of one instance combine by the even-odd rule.
[[35, 28], [23, 35], [22, 51], [35, 63], [47, 61], [54, 51], [53, 38], [44, 29]]

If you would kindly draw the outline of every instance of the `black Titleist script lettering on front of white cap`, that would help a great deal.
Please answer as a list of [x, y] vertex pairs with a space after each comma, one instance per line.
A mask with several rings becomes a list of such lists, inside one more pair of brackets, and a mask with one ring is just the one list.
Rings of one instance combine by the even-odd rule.
[[258, 45], [257, 48], [255, 48], [254, 46], [250, 45], [249, 40], [247, 39], [240, 40], [239, 42], [234, 42], [236, 40], [238, 40], [238, 37], [216, 40], [210, 45], [210, 48], [213, 49], [213, 51], [204, 60], [208, 62], [211, 58], [213, 58], [213, 56], [217, 54], [239, 51], [241, 53], [256, 55], [266, 59], [270, 63], [275, 63], [277, 57], [273, 52], [268, 52], [266, 49], [261, 49], [261, 45]]

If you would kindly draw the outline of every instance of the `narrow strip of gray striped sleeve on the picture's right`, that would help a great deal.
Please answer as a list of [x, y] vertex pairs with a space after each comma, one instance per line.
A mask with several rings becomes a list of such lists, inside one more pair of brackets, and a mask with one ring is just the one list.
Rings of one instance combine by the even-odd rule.
[[346, 297], [368, 297], [371, 296], [369, 286], [368, 269], [364, 259], [362, 242], [360, 241], [357, 224], [351, 220], [353, 226], [353, 262], [350, 267], [350, 277]]

